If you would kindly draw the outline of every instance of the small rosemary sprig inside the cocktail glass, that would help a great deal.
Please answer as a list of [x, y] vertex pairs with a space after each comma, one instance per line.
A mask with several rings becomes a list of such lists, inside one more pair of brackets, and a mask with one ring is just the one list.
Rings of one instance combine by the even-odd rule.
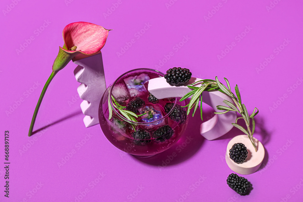
[[[116, 101], [116, 99], [114, 98], [114, 96], [110, 96], [110, 94], [108, 94], [108, 111], [109, 111], [108, 120], [110, 120], [112, 118], [112, 111], [113, 111], [112, 105], [110, 103], [110, 99], [112, 99], [112, 101], [115, 103], [115, 104], [113, 103], [114, 108], [118, 109], [118, 111], [121, 113], [121, 115], [124, 118], [126, 118], [127, 120], [129, 120], [129, 121], [137, 122], [136, 118], [138, 118], [138, 117], [143, 116], [144, 114], [146, 114], [146, 113], [144, 113], [144, 114], [137, 115], [137, 114], [135, 114], [132, 111], [125, 110], [126, 107], [121, 106]], [[130, 124], [132, 125], [132, 127], [136, 131], [136, 127], [135, 127], [136, 124], [133, 124], [133, 123], [130, 123]]]

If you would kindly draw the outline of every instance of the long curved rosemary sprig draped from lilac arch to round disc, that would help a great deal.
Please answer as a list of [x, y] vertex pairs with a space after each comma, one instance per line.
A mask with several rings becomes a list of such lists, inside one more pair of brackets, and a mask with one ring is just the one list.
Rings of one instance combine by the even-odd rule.
[[[258, 110], [258, 108], [255, 107], [253, 113], [249, 116], [245, 104], [242, 103], [242, 99], [241, 99], [241, 95], [240, 95], [240, 91], [239, 91], [238, 85], [235, 86], [235, 93], [236, 93], [236, 95], [235, 95], [231, 91], [230, 84], [229, 84], [227, 78], [224, 78], [224, 80], [226, 81], [227, 87], [218, 80], [217, 76], [216, 76], [215, 80], [212, 80], [212, 79], [202, 79], [202, 80], [196, 81], [195, 83], [190, 84], [190, 85], [187, 86], [188, 88], [191, 88], [193, 90], [190, 91], [189, 93], [185, 94], [180, 99], [180, 101], [183, 101], [183, 100], [185, 100], [186, 98], [188, 98], [188, 97], [190, 97], [192, 95], [191, 100], [189, 101], [189, 104], [186, 105], [186, 106], [184, 106], [184, 107], [188, 107], [188, 109], [187, 109], [187, 115], [188, 115], [189, 112], [190, 112], [190, 110], [191, 110], [191, 108], [193, 108], [195, 106], [194, 111], [192, 113], [192, 116], [194, 116], [195, 111], [196, 111], [196, 109], [198, 107], [198, 102], [200, 100], [200, 114], [201, 114], [201, 119], [203, 121], [203, 118], [202, 118], [202, 104], [201, 104], [203, 91], [217, 90], [217, 91], [220, 91], [220, 92], [228, 95], [235, 102], [235, 105], [232, 104], [231, 102], [227, 101], [227, 100], [224, 100], [223, 102], [225, 104], [227, 104], [228, 107], [222, 106], [222, 105], [218, 105], [217, 106], [218, 110], [225, 110], [225, 111], [223, 111], [223, 112], [215, 112], [215, 114], [225, 114], [225, 113], [227, 113], [229, 111], [236, 111], [239, 114], [241, 114], [242, 117], [238, 117], [236, 119], [236, 122], [232, 123], [232, 125], [235, 126], [235, 127], [237, 127], [237, 128], [239, 128], [242, 132], [244, 132], [245, 134], [248, 135], [248, 137], [249, 137], [252, 145], [254, 146], [255, 150], [257, 151], [257, 147], [256, 147], [256, 144], [255, 144], [255, 140], [253, 138], [253, 134], [255, 132], [255, 120], [254, 120], [254, 117], [255, 117], [255, 115], [258, 114], [259, 110]], [[194, 84], [199, 83], [199, 82], [202, 82], [202, 85], [200, 87], [193, 86]], [[239, 119], [242, 119], [242, 118], [245, 121], [247, 129], [245, 129], [244, 127], [242, 127], [239, 124], [237, 124], [237, 121]], [[252, 129], [250, 127], [250, 119], [252, 120], [251, 121], [251, 123], [252, 123]]]

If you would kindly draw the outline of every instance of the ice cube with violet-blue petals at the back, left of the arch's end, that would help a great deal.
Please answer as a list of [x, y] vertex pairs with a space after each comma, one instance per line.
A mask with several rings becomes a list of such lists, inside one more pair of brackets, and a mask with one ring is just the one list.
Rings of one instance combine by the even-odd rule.
[[130, 95], [132, 97], [143, 95], [147, 92], [144, 84], [149, 81], [149, 76], [147, 74], [141, 74], [138, 76], [130, 76], [123, 79]]

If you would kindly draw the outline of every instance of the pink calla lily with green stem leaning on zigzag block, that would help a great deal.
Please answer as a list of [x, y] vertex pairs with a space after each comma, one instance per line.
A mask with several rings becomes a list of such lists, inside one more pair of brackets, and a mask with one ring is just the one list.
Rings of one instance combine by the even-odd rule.
[[28, 136], [32, 135], [35, 120], [45, 91], [58, 71], [63, 69], [68, 62], [77, 55], [93, 55], [100, 51], [105, 45], [108, 31], [110, 30], [89, 22], [74, 22], [65, 26], [62, 34], [64, 45], [63, 47], [59, 46], [59, 53], [52, 66], [52, 74], [42, 89], [40, 98], [34, 111]]

